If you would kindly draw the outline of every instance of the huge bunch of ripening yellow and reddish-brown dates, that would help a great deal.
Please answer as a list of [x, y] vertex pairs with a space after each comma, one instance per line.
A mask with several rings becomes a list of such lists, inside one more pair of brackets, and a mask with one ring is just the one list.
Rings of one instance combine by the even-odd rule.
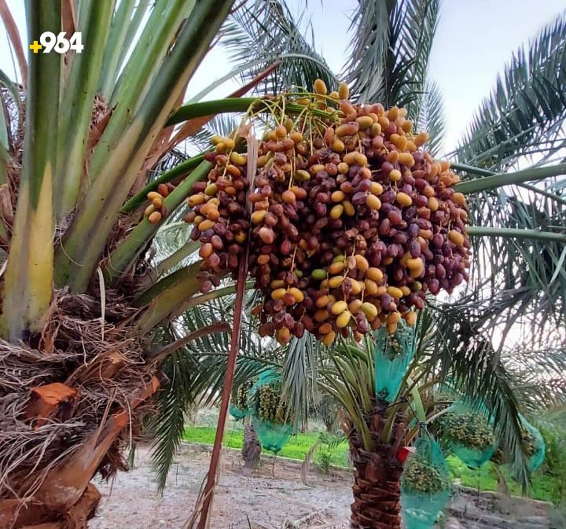
[[201, 242], [201, 290], [247, 257], [262, 336], [287, 343], [307, 330], [330, 345], [414, 325], [427, 293], [468, 279], [459, 177], [423, 149], [428, 135], [403, 108], [351, 104], [346, 85], [327, 95], [321, 81], [287, 102], [294, 113], [273, 115], [253, 164], [230, 137], [207, 154], [214, 166], [185, 217]]

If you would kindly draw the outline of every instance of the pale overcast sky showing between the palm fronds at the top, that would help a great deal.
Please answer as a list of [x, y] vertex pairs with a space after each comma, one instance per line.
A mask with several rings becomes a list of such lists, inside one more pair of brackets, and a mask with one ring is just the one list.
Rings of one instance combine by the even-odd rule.
[[[19, 27], [23, 27], [24, 0], [7, 3]], [[304, 11], [305, 0], [288, 0], [288, 4], [295, 15]], [[306, 15], [312, 18], [316, 48], [335, 72], [340, 72], [347, 57], [349, 16], [356, 4], [357, 0], [307, 1]], [[564, 0], [443, 0], [429, 72], [444, 96], [445, 150], [457, 143], [513, 51], [565, 8]], [[88, 46], [87, 42], [83, 44]], [[3, 28], [0, 68], [13, 75]], [[224, 51], [214, 50], [191, 81], [188, 94], [196, 94], [228, 71]], [[228, 83], [208, 97], [224, 96], [234, 86], [235, 83]]]

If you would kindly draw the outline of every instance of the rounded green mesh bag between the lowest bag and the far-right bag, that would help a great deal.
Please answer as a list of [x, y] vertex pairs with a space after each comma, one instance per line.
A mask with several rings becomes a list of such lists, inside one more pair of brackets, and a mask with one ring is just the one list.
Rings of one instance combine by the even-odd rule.
[[440, 435], [450, 453], [470, 468], [487, 463], [497, 449], [493, 422], [483, 409], [454, 402], [439, 419]]

